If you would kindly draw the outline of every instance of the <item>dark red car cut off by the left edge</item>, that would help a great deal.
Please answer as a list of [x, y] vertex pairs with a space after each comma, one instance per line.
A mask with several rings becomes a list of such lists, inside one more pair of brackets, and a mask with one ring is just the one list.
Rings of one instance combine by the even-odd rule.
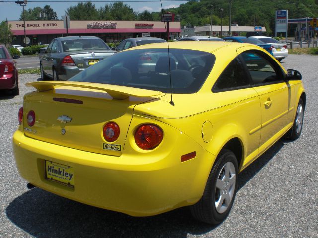
[[0, 45], [0, 90], [9, 89], [12, 95], [19, 95], [18, 70], [16, 61], [18, 55], [12, 57], [5, 46]]

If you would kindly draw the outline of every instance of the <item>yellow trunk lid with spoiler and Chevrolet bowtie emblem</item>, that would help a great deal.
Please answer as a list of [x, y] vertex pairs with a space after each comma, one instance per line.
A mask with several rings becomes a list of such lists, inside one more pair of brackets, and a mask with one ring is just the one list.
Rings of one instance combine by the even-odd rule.
[[[29, 83], [27, 86], [35, 87], [39, 92], [25, 96], [23, 128], [26, 136], [114, 156], [120, 156], [123, 151], [135, 105], [162, 94], [151, 90], [79, 82], [47, 81]], [[31, 110], [36, 118], [33, 126], [27, 123], [27, 114]], [[120, 127], [120, 135], [114, 142], [107, 142], [103, 137], [103, 127], [110, 121]]]

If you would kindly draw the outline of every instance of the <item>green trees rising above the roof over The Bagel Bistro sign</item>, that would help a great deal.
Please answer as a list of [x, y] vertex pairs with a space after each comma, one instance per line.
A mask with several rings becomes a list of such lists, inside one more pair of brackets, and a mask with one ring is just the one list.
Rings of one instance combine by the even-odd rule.
[[[49, 6], [45, 5], [43, 8], [34, 7], [24, 11], [26, 21], [36, 20], [57, 20], [56, 12]], [[23, 12], [20, 14], [20, 21], [23, 20]]]

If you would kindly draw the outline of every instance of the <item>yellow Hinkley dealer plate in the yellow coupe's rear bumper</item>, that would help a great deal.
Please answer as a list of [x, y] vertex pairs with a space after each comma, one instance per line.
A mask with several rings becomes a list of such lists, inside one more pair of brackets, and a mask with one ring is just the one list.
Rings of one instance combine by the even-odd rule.
[[52, 161], [45, 161], [45, 179], [74, 188], [74, 169]]

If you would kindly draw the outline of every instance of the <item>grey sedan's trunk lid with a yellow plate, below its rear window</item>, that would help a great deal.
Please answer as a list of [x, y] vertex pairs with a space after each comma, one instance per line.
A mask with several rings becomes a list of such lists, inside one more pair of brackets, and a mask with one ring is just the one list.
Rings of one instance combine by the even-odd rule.
[[115, 52], [111, 50], [88, 50], [86, 52], [70, 52], [70, 56], [73, 59], [77, 67], [87, 68], [99, 61], [110, 57]]

